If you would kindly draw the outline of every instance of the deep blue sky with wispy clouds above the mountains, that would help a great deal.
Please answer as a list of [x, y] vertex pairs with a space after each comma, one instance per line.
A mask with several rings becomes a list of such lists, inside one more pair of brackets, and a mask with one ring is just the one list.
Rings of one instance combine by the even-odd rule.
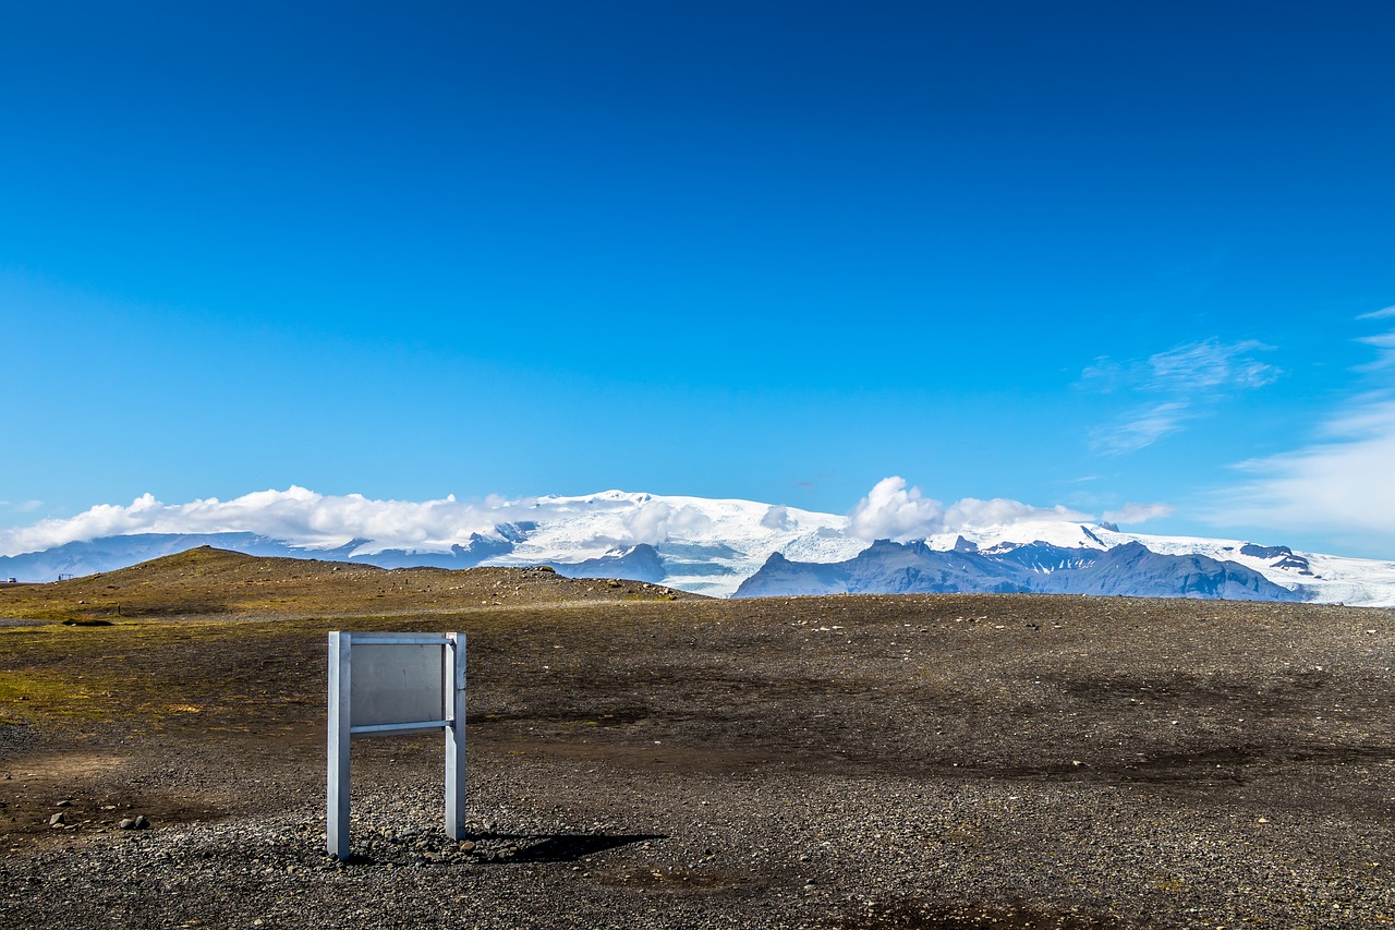
[[6, 4], [0, 526], [898, 475], [1395, 559], [1392, 39], [1385, 3]]

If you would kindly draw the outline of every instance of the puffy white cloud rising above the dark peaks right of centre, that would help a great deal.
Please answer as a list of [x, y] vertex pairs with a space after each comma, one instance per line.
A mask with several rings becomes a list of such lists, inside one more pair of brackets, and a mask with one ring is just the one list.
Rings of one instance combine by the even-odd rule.
[[965, 497], [949, 507], [907, 487], [900, 476], [883, 478], [848, 514], [848, 533], [859, 539], [923, 539], [971, 526], [1000, 526], [1034, 519], [1088, 521], [1066, 507], [1034, 507], [1017, 500]]

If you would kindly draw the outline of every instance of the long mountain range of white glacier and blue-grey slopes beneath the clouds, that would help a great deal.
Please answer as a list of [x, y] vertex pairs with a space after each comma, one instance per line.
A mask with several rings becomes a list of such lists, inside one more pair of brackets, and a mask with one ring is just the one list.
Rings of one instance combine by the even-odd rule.
[[[757, 589], [774, 592], [770, 578], [777, 570], [788, 578], [799, 574], [809, 584], [822, 578], [815, 586], [827, 585], [837, 575], [829, 566], [861, 560], [857, 584], [864, 586], [859, 589], [882, 592], [910, 584], [893, 577], [894, 563], [903, 575], [914, 570], [922, 581], [933, 568], [944, 575], [933, 584], [964, 591], [1148, 591], [1159, 596], [1198, 596], [1205, 584], [1197, 578], [1211, 577], [1219, 578], [1215, 591], [1228, 592], [1221, 595], [1228, 598], [1262, 595], [1275, 600], [1395, 606], [1395, 563], [1295, 552], [1289, 546], [1250, 540], [1149, 536], [1122, 532], [1112, 524], [1077, 522], [1050, 514], [891, 542], [857, 538], [848, 517], [744, 500], [611, 490], [582, 497], [501, 501], [492, 507], [492, 522], [459, 521], [455, 529], [448, 526], [431, 533], [403, 532], [399, 526], [388, 542], [374, 539], [364, 526], [338, 536], [317, 532], [294, 538], [272, 519], [265, 525], [276, 529], [262, 532], [96, 536], [0, 556], [0, 581], [6, 577], [53, 581], [60, 575], [86, 575], [208, 545], [257, 556], [385, 568], [550, 566], [569, 577], [625, 578], [710, 596], [738, 592], [749, 596]], [[244, 524], [255, 525], [255, 521], [248, 518]], [[904, 549], [908, 546], [911, 549]], [[1123, 546], [1137, 546], [1143, 552], [1126, 549], [1113, 560], [1102, 557]], [[783, 561], [770, 567], [777, 554]], [[1175, 559], [1209, 561], [1194, 561], [1190, 570], [1182, 570]], [[879, 560], [886, 564], [876, 567], [873, 563]], [[1212, 563], [1235, 568], [1218, 570]], [[812, 568], [797, 573], [792, 566]], [[1113, 575], [1106, 578], [1106, 570]], [[766, 573], [764, 578], [753, 582], [760, 573]], [[877, 577], [882, 581], [875, 582]], [[1073, 589], [1073, 584], [1080, 589]], [[1198, 584], [1201, 588], [1196, 586]]]

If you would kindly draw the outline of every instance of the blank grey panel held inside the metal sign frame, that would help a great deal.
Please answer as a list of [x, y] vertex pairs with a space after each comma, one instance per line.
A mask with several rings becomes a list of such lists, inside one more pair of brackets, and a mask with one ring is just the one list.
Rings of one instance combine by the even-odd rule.
[[444, 721], [444, 654], [434, 644], [354, 644], [350, 726]]

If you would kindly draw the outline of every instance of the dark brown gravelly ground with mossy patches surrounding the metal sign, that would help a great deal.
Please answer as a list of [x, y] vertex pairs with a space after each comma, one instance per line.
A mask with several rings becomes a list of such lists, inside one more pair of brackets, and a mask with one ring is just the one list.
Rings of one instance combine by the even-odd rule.
[[[1391, 612], [469, 593], [0, 631], [0, 926], [1395, 922]], [[469, 634], [469, 843], [361, 740], [325, 857], [329, 628]]]

